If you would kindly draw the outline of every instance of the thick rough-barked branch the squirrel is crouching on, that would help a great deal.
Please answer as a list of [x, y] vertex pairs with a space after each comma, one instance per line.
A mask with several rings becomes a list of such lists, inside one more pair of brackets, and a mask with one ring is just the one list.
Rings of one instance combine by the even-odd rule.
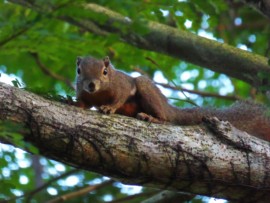
[[241, 202], [270, 197], [269, 143], [227, 122], [149, 124], [60, 104], [3, 83], [0, 119], [23, 124], [19, 132], [44, 156], [123, 183]]

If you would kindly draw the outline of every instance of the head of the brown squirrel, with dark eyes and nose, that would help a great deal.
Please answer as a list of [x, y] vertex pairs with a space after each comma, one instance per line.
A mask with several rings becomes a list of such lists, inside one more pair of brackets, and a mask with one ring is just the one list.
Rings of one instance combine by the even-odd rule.
[[108, 56], [103, 60], [92, 57], [77, 57], [76, 65], [77, 89], [91, 94], [108, 88], [113, 72], [113, 66]]

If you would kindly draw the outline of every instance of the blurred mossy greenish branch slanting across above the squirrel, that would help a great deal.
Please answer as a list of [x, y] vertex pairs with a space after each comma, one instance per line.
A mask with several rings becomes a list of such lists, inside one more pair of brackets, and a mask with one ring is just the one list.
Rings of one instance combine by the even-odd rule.
[[[51, 4], [38, 5], [26, 0], [10, 0], [10, 2], [29, 7], [46, 15], [53, 11], [53, 8], [49, 7]], [[65, 12], [65, 9], [74, 9], [74, 7], [80, 7], [82, 12], [91, 13], [91, 15], [83, 18]], [[215, 72], [225, 73], [253, 86], [269, 84], [268, 78], [262, 77], [262, 75], [270, 74], [268, 60], [263, 56], [158, 22], [143, 19], [140, 22], [135, 22], [97, 4], [80, 5], [76, 3], [70, 7], [63, 7], [62, 10], [57, 9], [52, 15], [53, 17], [88, 32], [102, 36], [114, 33], [133, 46], [167, 54]], [[142, 33], [142, 29], [138, 31], [136, 27], [138, 24], [143, 27], [144, 33]]]

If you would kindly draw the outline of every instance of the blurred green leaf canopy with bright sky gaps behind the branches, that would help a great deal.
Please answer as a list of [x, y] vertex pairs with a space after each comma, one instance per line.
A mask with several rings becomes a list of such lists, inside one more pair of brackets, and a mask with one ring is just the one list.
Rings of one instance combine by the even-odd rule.
[[[160, 53], [139, 49], [127, 44], [117, 34], [106, 36], [93, 34], [82, 26], [72, 25], [62, 20], [61, 17], [67, 14], [72, 14], [74, 19], [82, 17], [87, 19], [91, 16], [101, 22], [106, 20], [102, 16], [93, 16], [84, 9], [84, 5], [89, 3], [87, 0], [29, 1], [37, 9], [12, 2], [0, 1], [0, 73], [2, 75], [0, 80], [3, 80], [3, 74], [13, 74], [31, 91], [60, 94], [65, 97], [74, 96], [71, 83], [75, 78], [76, 57], [92, 55], [103, 58], [108, 55], [118, 69], [129, 73], [139, 71], [148, 74], [156, 82], [167, 82], [171, 86], [177, 85], [198, 93], [165, 91], [167, 96], [177, 98], [171, 100], [175, 105], [190, 106], [190, 102], [183, 100], [192, 100], [198, 105], [224, 106], [233, 101], [227, 96], [233, 95], [235, 96], [233, 98], [256, 96], [248, 84], [207, 70], [207, 67], [198, 67]], [[93, 2], [132, 19], [135, 22], [132, 29], [142, 34], [145, 32], [143, 26], [145, 20], [156, 21], [256, 54], [269, 56], [269, 20], [239, 1], [91, 1]], [[121, 25], [119, 27], [121, 28]], [[203, 92], [210, 92], [212, 97], [201, 97], [200, 93]], [[0, 130], [0, 136], [15, 137], [17, 139], [15, 143], [21, 146], [17, 135], [12, 135], [8, 129], [0, 128]], [[29, 149], [27, 146], [23, 147]], [[61, 172], [72, 170], [71, 167], [39, 158], [37, 162], [42, 168], [42, 173], [38, 174], [35, 167], [30, 167], [35, 161], [32, 155], [14, 151], [0, 144], [0, 199], [32, 191], [37, 187], [37, 177], [41, 182], [47, 182]], [[66, 185], [64, 180], [58, 180], [33, 196], [31, 202], [49, 200], [53, 198], [51, 196], [53, 194], [61, 195], [87, 184], [102, 182], [104, 179], [99, 175], [82, 171], [76, 171], [74, 174], [79, 180], [75, 187]], [[74, 202], [110, 201], [127, 194], [123, 192], [119, 183], [114, 183], [87, 196], [79, 197]], [[139, 202], [141, 199], [137, 198], [133, 201]], [[193, 201], [198, 200], [193, 199]]]

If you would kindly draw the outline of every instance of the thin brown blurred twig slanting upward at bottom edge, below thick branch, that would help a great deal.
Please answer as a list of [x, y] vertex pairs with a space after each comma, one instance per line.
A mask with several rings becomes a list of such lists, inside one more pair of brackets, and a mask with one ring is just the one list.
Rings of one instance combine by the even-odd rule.
[[48, 201], [47, 203], [57, 203], [57, 202], [64, 202], [68, 199], [73, 199], [75, 197], [79, 197], [79, 196], [83, 196], [89, 192], [92, 192], [94, 190], [98, 190], [100, 188], [103, 188], [107, 185], [110, 185], [114, 182], [114, 180], [109, 180], [109, 181], [105, 181], [101, 184], [97, 184], [97, 185], [90, 185], [90, 186], [87, 186], [87, 187], [84, 187], [76, 192], [71, 192], [71, 193], [68, 193], [66, 195], [62, 195], [60, 197], [56, 197], [50, 201]]

